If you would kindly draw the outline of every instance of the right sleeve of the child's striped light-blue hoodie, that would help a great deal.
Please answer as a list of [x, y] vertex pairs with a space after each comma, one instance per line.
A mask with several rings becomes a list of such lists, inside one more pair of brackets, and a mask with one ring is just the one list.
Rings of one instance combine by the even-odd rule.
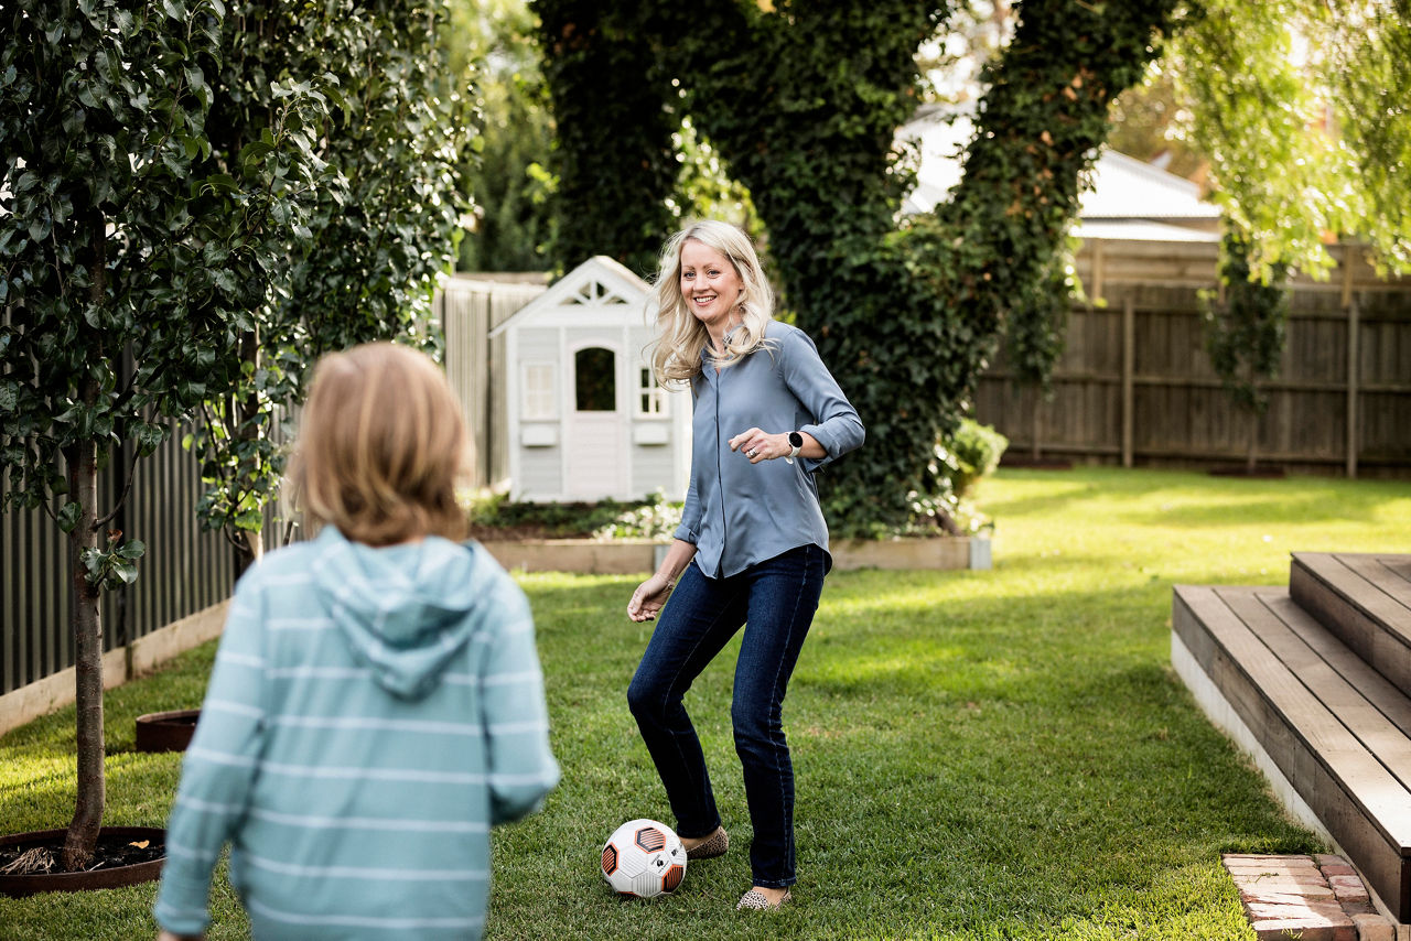
[[559, 783], [529, 601], [508, 577], [501, 597], [480, 677], [491, 824], [533, 813]]

